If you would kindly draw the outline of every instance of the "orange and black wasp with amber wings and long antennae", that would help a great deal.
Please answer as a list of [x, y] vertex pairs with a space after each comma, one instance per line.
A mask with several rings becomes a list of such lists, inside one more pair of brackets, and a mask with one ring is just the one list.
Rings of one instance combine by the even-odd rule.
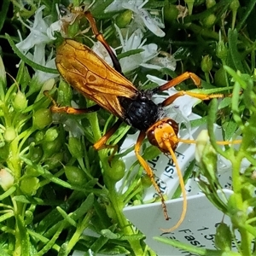
[[86, 98], [96, 102], [96, 105], [85, 110], [69, 107], [59, 108], [56, 106], [53, 106], [52, 109], [54, 112], [89, 113], [99, 108], [104, 108], [118, 117], [119, 120], [113, 127], [94, 144], [96, 150], [106, 147], [108, 138], [117, 131], [122, 122], [139, 130], [140, 133], [135, 145], [135, 154], [137, 160], [147, 172], [148, 177], [150, 177], [157, 193], [160, 195], [166, 220], [169, 219], [169, 216], [167, 214], [164, 197], [158, 184], [154, 180], [154, 172], [140, 154], [140, 148], [145, 137], [148, 137], [149, 143], [160, 148], [163, 153], [171, 154], [183, 190], [183, 212], [177, 224], [171, 229], [175, 230], [177, 226], [183, 222], [187, 209], [187, 200], [183, 176], [178, 167], [174, 151], [178, 143], [195, 143], [195, 141], [183, 140], [178, 137], [178, 124], [175, 120], [166, 117], [164, 108], [172, 104], [177, 97], [184, 95], [193, 96], [201, 100], [220, 98], [224, 97], [224, 95], [206, 95], [181, 90], [169, 96], [160, 104], [155, 104], [152, 101], [152, 96], [155, 93], [168, 90], [186, 79], [192, 79], [194, 84], [200, 87], [201, 79], [195, 75], [195, 73], [186, 72], [153, 90], [138, 90], [135, 85], [123, 75], [116, 55], [114, 55], [113, 50], [102, 36], [102, 33], [97, 30], [96, 20], [89, 11], [85, 11], [84, 15], [87, 20], [89, 20], [90, 27], [96, 39], [107, 49], [113, 61], [113, 67], [109, 66], [108, 63], [103, 61], [86, 45], [79, 44], [72, 39], [65, 39], [56, 51], [56, 67], [62, 78], [65, 79], [68, 84], [71, 84], [75, 90], [78, 90]]

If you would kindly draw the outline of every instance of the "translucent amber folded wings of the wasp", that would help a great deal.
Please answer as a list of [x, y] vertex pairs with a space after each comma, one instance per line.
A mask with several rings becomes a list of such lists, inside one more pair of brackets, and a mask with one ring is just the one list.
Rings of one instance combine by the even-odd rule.
[[138, 95], [137, 88], [128, 79], [84, 44], [66, 39], [57, 49], [55, 62], [68, 84], [121, 119], [124, 110], [119, 97]]

